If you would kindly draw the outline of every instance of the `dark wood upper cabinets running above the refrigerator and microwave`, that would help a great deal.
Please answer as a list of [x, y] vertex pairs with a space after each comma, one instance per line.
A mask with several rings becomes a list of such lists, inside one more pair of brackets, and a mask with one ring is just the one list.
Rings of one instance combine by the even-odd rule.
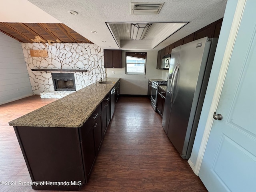
[[163, 48], [162, 50], [158, 51], [156, 68], [162, 69], [163, 56], [171, 54], [172, 49], [175, 47], [192, 42], [194, 40], [197, 40], [197, 39], [200, 39], [203, 37], [209, 37], [209, 38], [219, 37], [222, 20], [223, 20], [223, 18], [209, 24], [208, 26], [205, 26], [204, 28], [202, 28], [202, 29], [174, 42], [173, 44], [170, 44], [169, 46]]

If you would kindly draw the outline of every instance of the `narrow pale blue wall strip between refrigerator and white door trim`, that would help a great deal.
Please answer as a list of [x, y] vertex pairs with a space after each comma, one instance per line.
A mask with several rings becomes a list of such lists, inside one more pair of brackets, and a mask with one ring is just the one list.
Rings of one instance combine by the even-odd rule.
[[197, 132], [196, 132], [196, 138], [194, 141], [192, 154], [190, 156], [190, 160], [194, 165], [196, 164], [198, 151], [199, 151], [200, 144], [202, 142], [202, 137], [204, 134], [204, 128], [206, 126], [208, 113], [210, 111], [210, 106], [212, 104], [214, 90], [218, 80], [218, 75], [220, 72], [220, 66], [222, 64], [222, 59], [226, 49], [226, 44], [228, 42], [228, 36], [230, 33], [231, 24], [233, 21], [235, 10], [236, 10], [237, 1], [238, 0], [229, 0], [226, 5], [226, 10], [225, 10], [225, 14], [222, 22], [221, 31], [220, 31], [220, 37], [218, 40], [218, 45], [217, 45], [216, 53], [214, 56], [214, 62], [212, 65], [212, 71], [210, 74], [210, 79], [209, 79], [208, 87], [206, 90], [206, 95], [205, 95], [204, 104], [202, 107], [202, 112], [201, 112]]

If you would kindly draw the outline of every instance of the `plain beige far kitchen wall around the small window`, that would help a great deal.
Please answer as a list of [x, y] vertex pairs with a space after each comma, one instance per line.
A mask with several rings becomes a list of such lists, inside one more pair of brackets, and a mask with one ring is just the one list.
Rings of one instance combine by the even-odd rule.
[[[130, 51], [130, 52], [138, 52], [138, 51]], [[146, 95], [148, 94], [148, 79], [162, 79], [163, 70], [156, 69], [157, 51], [141, 51], [141, 52], [147, 52], [145, 75], [125, 74], [125, 51], [122, 51], [122, 68], [106, 69], [107, 77], [121, 78], [120, 94]], [[112, 73], [113, 71], [114, 71], [114, 74]]]

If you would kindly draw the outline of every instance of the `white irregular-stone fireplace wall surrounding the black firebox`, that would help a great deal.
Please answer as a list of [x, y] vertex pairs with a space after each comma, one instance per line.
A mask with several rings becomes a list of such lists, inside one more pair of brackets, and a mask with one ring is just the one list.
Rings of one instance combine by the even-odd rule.
[[[103, 49], [95, 44], [22, 43], [22, 48], [32, 91], [41, 98], [64, 97], [106, 76]], [[32, 57], [30, 49], [47, 50], [48, 56]], [[58, 77], [56, 83], [52, 79], [53, 71], [58, 75], [72, 74], [72, 78]], [[56, 85], [61, 91], [55, 89]]]

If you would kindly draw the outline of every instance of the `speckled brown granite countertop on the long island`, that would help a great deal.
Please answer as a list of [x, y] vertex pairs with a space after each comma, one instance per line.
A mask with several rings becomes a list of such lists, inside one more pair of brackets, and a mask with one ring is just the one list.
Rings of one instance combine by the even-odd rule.
[[[120, 78], [104, 78], [117, 82]], [[91, 84], [64, 98], [9, 122], [11, 126], [70, 127], [82, 126], [99, 106], [113, 84]]]

